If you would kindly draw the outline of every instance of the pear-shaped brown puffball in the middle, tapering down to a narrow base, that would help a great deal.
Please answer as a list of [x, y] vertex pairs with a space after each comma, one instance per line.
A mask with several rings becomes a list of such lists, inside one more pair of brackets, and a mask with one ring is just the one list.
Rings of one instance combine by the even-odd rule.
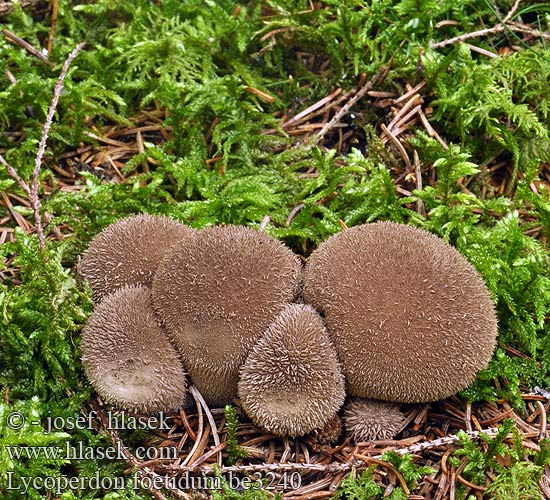
[[236, 396], [239, 368], [297, 294], [298, 258], [255, 229], [215, 226], [172, 249], [153, 280], [153, 306], [210, 404]]

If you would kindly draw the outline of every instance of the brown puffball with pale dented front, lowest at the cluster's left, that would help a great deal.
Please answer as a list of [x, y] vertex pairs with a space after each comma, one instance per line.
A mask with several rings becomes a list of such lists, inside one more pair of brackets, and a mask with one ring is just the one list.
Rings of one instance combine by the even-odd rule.
[[81, 349], [84, 371], [107, 402], [145, 414], [183, 404], [186, 375], [155, 317], [149, 288], [105, 297], [83, 329]]

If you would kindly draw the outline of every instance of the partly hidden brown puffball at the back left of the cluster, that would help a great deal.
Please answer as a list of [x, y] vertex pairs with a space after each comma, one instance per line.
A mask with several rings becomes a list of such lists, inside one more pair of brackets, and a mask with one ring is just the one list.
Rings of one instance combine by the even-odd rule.
[[166, 251], [192, 232], [168, 217], [126, 217], [94, 237], [82, 255], [79, 274], [88, 280], [98, 300], [124, 286], [150, 287]]

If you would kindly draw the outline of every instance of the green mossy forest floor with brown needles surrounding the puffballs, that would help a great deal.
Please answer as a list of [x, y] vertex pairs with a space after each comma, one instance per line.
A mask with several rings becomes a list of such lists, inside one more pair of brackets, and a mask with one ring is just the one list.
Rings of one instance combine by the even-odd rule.
[[[36, 499], [550, 499], [548, 4], [29, 3], [0, 2], [3, 498], [31, 478]], [[404, 405], [395, 441], [276, 438], [238, 401], [236, 417], [198, 402], [167, 432], [108, 429], [80, 362], [93, 301], [76, 264], [136, 212], [261, 226], [304, 260], [353, 225], [427, 229], [484, 278], [493, 360], [460, 394]], [[79, 415], [93, 425], [45, 432]], [[12, 454], [67, 443], [90, 454]], [[93, 452], [110, 446], [122, 460]], [[170, 477], [221, 489], [148, 487]]]

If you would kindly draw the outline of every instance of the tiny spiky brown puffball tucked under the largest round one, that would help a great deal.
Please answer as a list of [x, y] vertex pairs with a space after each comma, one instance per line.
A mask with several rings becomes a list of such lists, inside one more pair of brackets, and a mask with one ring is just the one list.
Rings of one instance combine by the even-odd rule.
[[346, 433], [356, 443], [393, 439], [404, 422], [405, 415], [392, 403], [352, 399], [344, 407]]

